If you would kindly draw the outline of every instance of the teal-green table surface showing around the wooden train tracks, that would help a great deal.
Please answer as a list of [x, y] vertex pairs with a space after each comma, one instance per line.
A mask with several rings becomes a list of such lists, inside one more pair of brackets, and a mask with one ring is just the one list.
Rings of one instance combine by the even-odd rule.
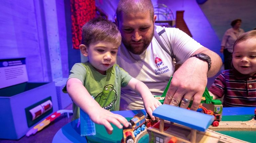
[[[235, 115], [235, 116], [222, 116], [222, 121], [249, 121], [253, 118], [254, 115]], [[126, 118], [130, 120], [132, 118]], [[112, 125], [112, 124], [111, 124]], [[95, 125], [96, 135], [87, 136], [88, 143], [120, 143], [123, 132], [122, 129], [119, 129], [115, 125], [113, 126], [113, 133], [109, 135], [103, 125]], [[217, 131], [219, 133], [235, 137], [244, 141], [251, 143], [256, 143], [256, 131]], [[139, 143], [148, 143], [149, 135], [144, 135]]]

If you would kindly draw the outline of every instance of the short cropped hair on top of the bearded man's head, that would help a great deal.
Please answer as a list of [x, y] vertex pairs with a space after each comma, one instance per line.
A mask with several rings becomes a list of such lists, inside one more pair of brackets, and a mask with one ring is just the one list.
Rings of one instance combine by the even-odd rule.
[[129, 13], [147, 13], [149, 12], [152, 20], [154, 19], [154, 7], [151, 0], [120, 0], [116, 9], [117, 22], [121, 19], [122, 14]]

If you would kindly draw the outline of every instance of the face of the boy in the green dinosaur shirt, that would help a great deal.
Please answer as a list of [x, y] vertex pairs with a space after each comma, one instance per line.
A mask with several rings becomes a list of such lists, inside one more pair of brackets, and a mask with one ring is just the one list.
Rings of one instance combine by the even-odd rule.
[[117, 51], [117, 45], [107, 41], [91, 43], [87, 48], [90, 64], [103, 75], [116, 62]]

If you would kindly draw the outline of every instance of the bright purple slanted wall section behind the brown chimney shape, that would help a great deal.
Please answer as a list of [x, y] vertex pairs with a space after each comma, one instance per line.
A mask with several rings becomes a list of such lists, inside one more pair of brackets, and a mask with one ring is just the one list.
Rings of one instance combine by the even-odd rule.
[[167, 5], [175, 14], [175, 18], [176, 11], [184, 10], [184, 20], [193, 39], [219, 54], [220, 41], [195, 0], [158, 0], [158, 3]]

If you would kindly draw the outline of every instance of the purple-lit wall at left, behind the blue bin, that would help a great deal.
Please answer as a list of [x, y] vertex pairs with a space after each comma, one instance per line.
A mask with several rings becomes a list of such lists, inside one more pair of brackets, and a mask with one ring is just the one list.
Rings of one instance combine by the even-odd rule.
[[64, 1], [57, 4], [52, 0], [0, 2], [0, 58], [26, 57], [29, 81], [68, 76]]

